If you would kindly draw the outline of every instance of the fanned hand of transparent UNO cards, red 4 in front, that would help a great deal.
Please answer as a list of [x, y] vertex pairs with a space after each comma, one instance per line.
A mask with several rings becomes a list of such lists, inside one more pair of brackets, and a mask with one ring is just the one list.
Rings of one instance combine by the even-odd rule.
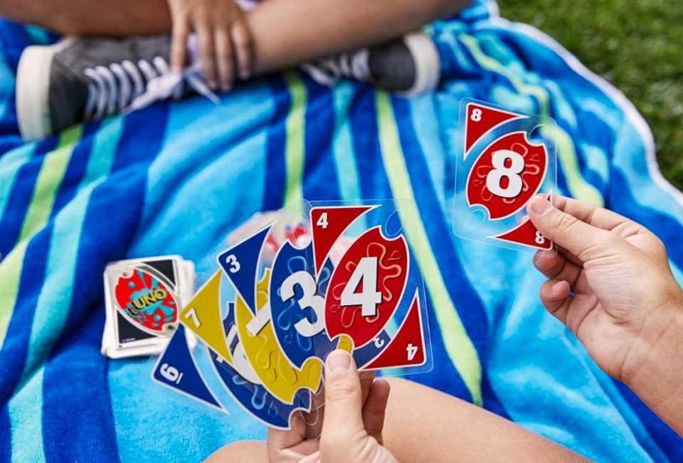
[[424, 282], [401, 219], [396, 202], [326, 202], [250, 221], [181, 311], [152, 379], [288, 429], [295, 410], [319, 405], [334, 349], [361, 370], [430, 370]]

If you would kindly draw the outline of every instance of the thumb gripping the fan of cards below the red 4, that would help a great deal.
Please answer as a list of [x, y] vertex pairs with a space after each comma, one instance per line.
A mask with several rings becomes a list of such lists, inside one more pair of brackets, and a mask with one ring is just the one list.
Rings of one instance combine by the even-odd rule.
[[[329, 450], [338, 461], [352, 461], [359, 437], [365, 427], [361, 410], [363, 394], [356, 363], [345, 350], [334, 350], [325, 362], [325, 415], [320, 435], [320, 450]], [[321, 455], [324, 457], [324, 455]], [[346, 457], [351, 457], [345, 459]], [[323, 458], [323, 461], [326, 461]]]

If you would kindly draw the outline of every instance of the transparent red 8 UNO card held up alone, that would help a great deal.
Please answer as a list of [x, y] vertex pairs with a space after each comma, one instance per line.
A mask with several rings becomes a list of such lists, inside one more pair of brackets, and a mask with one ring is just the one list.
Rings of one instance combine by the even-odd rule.
[[455, 175], [457, 236], [512, 249], [552, 249], [526, 204], [556, 190], [554, 120], [465, 98]]

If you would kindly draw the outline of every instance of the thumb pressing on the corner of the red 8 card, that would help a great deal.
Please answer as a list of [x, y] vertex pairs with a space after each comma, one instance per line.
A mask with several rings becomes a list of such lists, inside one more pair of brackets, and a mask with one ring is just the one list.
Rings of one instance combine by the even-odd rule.
[[613, 242], [609, 231], [581, 222], [541, 195], [531, 199], [527, 212], [536, 229], [582, 262], [597, 257]]

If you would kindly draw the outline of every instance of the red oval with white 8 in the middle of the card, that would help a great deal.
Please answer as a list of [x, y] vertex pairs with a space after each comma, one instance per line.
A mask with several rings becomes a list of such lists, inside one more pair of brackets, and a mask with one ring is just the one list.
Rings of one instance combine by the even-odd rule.
[[519, 212], [539, 191], [547, 160], [545, 146], [531, 144], [524, 132], [499, 137], [470, 171], [467, 203], [485, 207], [491, 220]]

